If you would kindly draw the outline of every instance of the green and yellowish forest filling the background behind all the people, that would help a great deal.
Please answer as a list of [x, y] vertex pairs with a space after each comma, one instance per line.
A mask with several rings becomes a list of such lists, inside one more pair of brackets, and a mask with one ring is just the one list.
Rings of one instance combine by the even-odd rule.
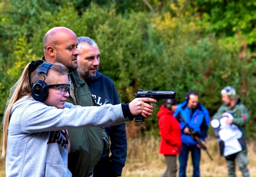
[[[44, 55], [46, 32], [65, 26], [96, 41], [99, 71], [113, 79], [122, 103], [138, 89], [175, 89], [179, 102], [193, 89], [212, 116], [230, 85], [248, 108], [248, 139], [255, 140], [255, 25], [254, 0], [2, 0], [0, 121], [11, 86]], [[127, 124], [129, 130], [159, 136], [159, 108], [145, 123]]]

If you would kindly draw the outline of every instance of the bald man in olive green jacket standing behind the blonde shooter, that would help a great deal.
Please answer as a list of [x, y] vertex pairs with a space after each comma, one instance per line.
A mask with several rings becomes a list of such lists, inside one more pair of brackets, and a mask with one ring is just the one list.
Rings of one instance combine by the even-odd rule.
[[[80, 106], [95, 106], [94, 99], [86, 82], [76, 71], [79, 55], [76, 34], [65, 27], [50, 29], [43, 40], [46, 62], [60, 62], [69, 69], [69, 82], [72, 84], [67, 102]], [[92, 176], [93, 168], [108, 149], [108, 136], [104, 128], [78, 128], [68, 130], [70, 152], [68, 168], [73, 176]]]

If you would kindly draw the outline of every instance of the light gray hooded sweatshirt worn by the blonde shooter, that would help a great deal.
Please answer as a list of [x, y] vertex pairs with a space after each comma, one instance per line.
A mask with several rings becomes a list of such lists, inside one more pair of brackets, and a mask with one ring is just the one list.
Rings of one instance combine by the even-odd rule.
[[63, 109], [27, 98], [14, 104], [7, 137], [6, 176], [72, 176], [68, 170], [69, 136], [66, 129], [107, 127], [131, 121], [121, 104]]

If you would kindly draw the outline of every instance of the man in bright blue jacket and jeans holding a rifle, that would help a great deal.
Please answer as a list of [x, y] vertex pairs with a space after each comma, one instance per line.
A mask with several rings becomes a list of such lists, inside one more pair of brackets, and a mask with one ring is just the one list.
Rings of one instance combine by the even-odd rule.
[[173, 116], [176, 118], [179, 115], [183, 116], [187, 124], [180, 120], [181, 125], [181, 140], [182, 147], [181, 153], [179, 155], [179, 177], [186, 177], [186, 167], [188, 153], [191, 151], [191, 157], [193, 162], [193, 177], [200, 176], [200, 156], [201, 150], [200, 146], [197, 143], [189, 131], [189, 128], [192, 128], [197, 136], [200, 138], [202, 143], [207, 137], [207, 131], [210, 121], [210, 116], [208, 110], [198, 102], [198, 94], [196, 91], [191, 90], [187, 92], [185, 96], [185, 101], [177, 105], [177, 109]]

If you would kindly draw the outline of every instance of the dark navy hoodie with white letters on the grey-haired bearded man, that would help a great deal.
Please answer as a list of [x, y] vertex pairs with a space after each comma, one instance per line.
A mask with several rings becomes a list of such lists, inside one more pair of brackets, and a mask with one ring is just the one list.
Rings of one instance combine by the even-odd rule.
[[[109, 77], [97, 71], [96, 76], [93, 77], [92, 80], [86, 82], [95, 99], [96, 106], [101, 106], [103, 104], [120, 104], [117, 90]], [[108, 149], [106, 152], [103, 152], [100, 159], [107, 158], [111, 151], [111, 167], [116, 174], [121, 175], [127, 155], [125, 123], [105, 127], [105, 130], [110, 137], [111, 146], [110, 150]]]

